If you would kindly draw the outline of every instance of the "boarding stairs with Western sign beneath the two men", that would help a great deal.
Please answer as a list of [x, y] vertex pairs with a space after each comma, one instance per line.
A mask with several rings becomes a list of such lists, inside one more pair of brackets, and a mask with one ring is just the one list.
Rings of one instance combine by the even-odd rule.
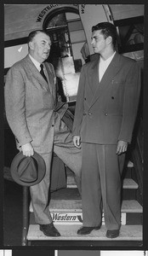
[[[89, 235], [79, 236], [77, 230], [83, 224], [82, 201], [78, 193], [73, 173], [65, 166], [66, 188], [51, 194], [49, 209], [54, 226], [60, 231], [59, 237], [44, 236], [35, 224], [30, 206], [30, 224], [26, 239], [22, 245], [141, 245], [143, 207], [137, 201], [138, 183], [132, 178], [134, 164], [128, 160], [122, 177], [122, 227], [120, 236], [115, 239], [105, 237], [105, 222], [102, 218], [100, 230], [93, 230]], [[62, 243], [63, 242], [63, 243]], [[82, 243], [83, 242], [83, 243]], [[87, 242], [87, 243], [86, 243]]]

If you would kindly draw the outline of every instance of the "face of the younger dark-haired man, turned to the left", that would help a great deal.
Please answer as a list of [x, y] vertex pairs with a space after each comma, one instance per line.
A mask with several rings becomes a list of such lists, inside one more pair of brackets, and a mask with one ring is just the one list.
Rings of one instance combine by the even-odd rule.
[[107, 48], [107, 38], [101, 33], [101, 30], [92, 32], [91, 44], [94, 49], [94, 53], [102, 54]]

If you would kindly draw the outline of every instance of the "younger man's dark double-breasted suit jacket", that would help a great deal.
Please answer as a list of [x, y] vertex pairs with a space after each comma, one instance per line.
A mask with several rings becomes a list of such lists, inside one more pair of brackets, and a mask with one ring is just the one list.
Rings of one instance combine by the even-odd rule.
[[82, 68], [73, 134], [86, 143], [130, 143], [137, 113], [140, 73], [136, 61], [116, 55], [99, 82], [99, 60]]

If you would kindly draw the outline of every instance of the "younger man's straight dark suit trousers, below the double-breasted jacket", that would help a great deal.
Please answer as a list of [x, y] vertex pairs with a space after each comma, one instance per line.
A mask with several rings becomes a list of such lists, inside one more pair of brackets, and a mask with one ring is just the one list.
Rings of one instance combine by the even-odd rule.
[[121, 173], [125, 154], [117, 145], [82, 143], [83, 226], [101, 224], [102, 206], [107, 230], [121, 225]]

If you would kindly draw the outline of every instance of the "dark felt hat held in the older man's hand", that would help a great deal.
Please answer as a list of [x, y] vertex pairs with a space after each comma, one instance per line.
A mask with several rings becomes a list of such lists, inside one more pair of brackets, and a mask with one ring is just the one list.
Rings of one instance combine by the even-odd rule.
[[16, 154], [10, 166], [14, 181], [22, 186], [33, 186], [40, 183], [45, 175], [46, 166], [43, 157], [37, 152], [29, 157], [22, 151]]

